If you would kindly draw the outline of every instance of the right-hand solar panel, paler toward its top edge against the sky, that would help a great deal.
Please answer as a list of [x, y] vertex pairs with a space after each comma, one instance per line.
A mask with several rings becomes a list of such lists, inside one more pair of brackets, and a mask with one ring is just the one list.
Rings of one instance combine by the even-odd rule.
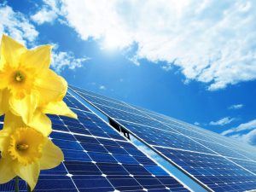
[[160, 113], [71, 88], [207, 190], [256, 189], [255, 148]]

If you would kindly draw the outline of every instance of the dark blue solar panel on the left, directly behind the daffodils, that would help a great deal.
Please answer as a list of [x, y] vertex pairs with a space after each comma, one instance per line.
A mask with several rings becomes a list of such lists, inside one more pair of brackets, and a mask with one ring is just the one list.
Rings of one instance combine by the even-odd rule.
[[[40, 173], [35, 191], [189, 191], [73, 95], [67, 93], [64, 101], [79, 119], [49, 115], [54, 129], [49, 137], [65, 160]], [[14, 191], [14, 186], [12, 180], [0, 191]], [[26, 191], [23, 181], [21, 191]]]

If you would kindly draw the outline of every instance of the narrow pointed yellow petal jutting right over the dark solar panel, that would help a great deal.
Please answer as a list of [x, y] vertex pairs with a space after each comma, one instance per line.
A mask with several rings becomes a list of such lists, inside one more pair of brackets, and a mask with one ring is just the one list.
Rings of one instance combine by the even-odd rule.
[[47, 105], [44, 106], [44, 108], [42, 108], [42, 112], [49, 114], [59, 114], [78, 119], [78, 115], [76, 113], [73, 113], [73, 111], [70, 110], [70, 108], [67, 107], [67, 104], [63, 101], [49, 102]]

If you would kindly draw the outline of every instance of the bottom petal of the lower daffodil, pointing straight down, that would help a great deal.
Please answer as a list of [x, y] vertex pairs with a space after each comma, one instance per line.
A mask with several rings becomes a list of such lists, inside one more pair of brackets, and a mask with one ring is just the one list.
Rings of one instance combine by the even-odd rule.
[[28, 183], [30, 188], [33, 190], [38, 183], [38, 176], [40, 173], [39, 163], [34, 162], [27, 166], [21, 166], [20, 164], [16, 164], [14, 168], [15, 174], [25, 180], [26, 183]]

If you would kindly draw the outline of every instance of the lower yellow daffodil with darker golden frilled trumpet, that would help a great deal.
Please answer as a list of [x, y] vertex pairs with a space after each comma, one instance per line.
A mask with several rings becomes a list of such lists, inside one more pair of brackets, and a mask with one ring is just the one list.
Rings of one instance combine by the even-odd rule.
[[63, 154], [48, 137], [26, 126], [20, 117], [8, 115], [0, 131], [0, 183], [18, 176], [33, 190], [40, 170], [60, 165]]

